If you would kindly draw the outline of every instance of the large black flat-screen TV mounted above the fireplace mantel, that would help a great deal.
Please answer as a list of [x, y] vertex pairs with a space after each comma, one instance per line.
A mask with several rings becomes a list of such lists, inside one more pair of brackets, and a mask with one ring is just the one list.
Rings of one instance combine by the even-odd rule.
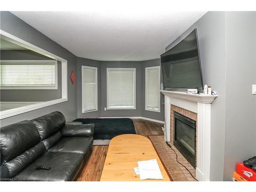
[[165, 90], [203, 88], [197, 29], [161, 55]]

